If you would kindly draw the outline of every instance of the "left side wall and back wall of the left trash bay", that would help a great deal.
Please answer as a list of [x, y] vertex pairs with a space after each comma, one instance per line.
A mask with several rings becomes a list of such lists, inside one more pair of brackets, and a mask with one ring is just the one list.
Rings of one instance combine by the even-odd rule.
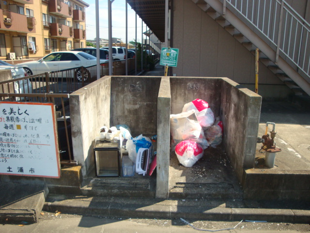
[[156, 134], [160, 77], [105, 76], [70, 94], [74, 159], [87, 176], [101, 126], [127, 124], [132, 134]]

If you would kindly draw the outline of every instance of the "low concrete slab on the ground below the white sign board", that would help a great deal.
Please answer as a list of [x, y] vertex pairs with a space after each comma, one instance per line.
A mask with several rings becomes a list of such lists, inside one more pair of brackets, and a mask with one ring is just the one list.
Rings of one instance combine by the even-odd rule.
[[0, 222], [37, 222], [48, 195], [44, 184], [0, 183]]

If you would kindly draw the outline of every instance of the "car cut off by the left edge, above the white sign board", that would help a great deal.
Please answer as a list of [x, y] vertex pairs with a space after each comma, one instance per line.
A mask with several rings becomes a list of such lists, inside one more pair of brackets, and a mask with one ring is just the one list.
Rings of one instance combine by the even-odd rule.
[[[25, 75], [27, 76], [23, 67], [14, 66], [12, 64], [9, 64], [7, 62], [0, 60], [0, 70], [3, 70], [3, 69], [11, 70], [13, 79], [23, 78], [25, 77]], [[31, 82], [29, 81], [29, 79], [24, 79], [24, 80], [15, 82], [14, 89], [15, 89], [15, 93], [20, 93], [20, 94], [21, 93], [32, 93], [32, 86], [31, 86]]]

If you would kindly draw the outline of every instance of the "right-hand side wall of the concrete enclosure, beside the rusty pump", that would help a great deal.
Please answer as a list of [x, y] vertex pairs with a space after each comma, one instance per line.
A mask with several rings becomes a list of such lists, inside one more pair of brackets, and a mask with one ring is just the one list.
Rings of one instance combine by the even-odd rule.
[[241, 183], [244, 169], [254, 167], [262, 97], [227, 78], [221, 90], [223, 145]]

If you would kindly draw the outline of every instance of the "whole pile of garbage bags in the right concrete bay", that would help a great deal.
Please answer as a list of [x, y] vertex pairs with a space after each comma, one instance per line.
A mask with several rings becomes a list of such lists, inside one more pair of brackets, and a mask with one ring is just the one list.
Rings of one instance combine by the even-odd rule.
[[170, 115], [171, 147], [183, 166], [193, 166], [203, 150], [222, 142], [223, 123], [201, 99], [186, 103], [180, 114]]

